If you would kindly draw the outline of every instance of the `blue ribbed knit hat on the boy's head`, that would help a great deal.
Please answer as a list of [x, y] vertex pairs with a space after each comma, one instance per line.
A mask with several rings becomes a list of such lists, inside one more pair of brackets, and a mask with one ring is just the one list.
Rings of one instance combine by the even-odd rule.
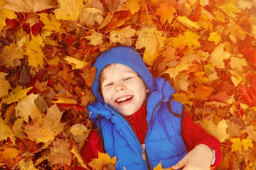
[[105, 104], [105, 102], [102, 95], [100, 94], [99, 75], [107, 65], [113, 63], [127, 65], [128, 67], [132, 68], [143, 79], [145, 85], [149, 90], [149, 93], [152, 93], [154, 91], [154, 81], [152, 74], [145, 66], [145, 63], [143, 62], [143, 59], [140, 56], [140, 54], [138, 54], [138, 52], [131, 47], [114, 47], [108, 51], [103, 52], [96, 59], [96, 62], [93, 65], [93, 67], [96, 67], [96, 74], [94, 77], [92, 90], [94, 96], [96, 96], [96, 99], [103, 105]]

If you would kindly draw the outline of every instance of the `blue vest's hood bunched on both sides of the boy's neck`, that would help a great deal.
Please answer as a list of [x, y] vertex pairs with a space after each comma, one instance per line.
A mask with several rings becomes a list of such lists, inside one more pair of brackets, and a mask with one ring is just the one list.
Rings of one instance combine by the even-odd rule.
[[[163, 99], [163, 102], [169, 101], [170, 98], [172, 98], [172, 94], [175, 93], [174, 88], [170, 85], [168, 81], [165, 81], [162, 77], [154, 78], [154, 92], [152, 92], [148, 96], [148, 104], [147, 104], [147, 122], [149, 123], [151, 119], [152, 112], [154, 108], [157, 106], [157, 104]], [[110, 105], [111, 109], [108, 103], [105, 103], [103, 105], [101, 102], [97, 101], [94, 102], [92, 105], [89, 105], [87, 107], [88, 114], [90, 115], [90, 119], [95, 123], [98, 119], [98, 114], [101, 117], [105, 117], [108, 120], [111, 120], [111, 122], [123, 122], [125, 121], [122, 116], [120, 116], [118, 113], [116, 113], [113, 110], [116, 110], [119, 112], [116, 108]], [[157, 109], [155, 112], [157, 112]]]

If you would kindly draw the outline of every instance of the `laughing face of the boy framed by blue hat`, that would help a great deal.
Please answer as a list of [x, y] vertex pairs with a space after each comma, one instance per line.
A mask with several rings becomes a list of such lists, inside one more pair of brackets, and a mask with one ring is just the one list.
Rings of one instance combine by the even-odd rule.
[[148, 89], [132, 68], [111, 64], [104, 69], [102, 77], [101, 90], [105, 103], [114, 106], [124, 116], [132, 115], [143, 105]]

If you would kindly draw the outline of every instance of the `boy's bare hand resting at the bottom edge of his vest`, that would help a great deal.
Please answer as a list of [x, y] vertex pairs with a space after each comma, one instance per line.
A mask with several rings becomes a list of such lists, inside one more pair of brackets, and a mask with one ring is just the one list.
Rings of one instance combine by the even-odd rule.
[[210, 170], [212, 158], [212, 149], [206, 144], [198, 144], [183, 159], [172, 166], [172, 169], [177, 170], [185, 166], [183, 170]]

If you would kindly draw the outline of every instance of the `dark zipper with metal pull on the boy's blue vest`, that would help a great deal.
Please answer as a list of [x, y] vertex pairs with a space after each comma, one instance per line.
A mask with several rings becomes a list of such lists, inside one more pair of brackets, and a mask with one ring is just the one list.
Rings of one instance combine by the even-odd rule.
[[[164, 96], [163, 96], [163, 98], [164, 98]], [[156, 105], [156, 107], [153, 109], [152, 116], [151, 116], [151, 120], [150, 120], [149, 125], [148, 125], [148, 129], [149, 129], [151, 123], [153, 122], [154, 111], [155, 111], [155, 109], [163, 102], [163, 98], [160, 100], [160, 102], [159, 102], [159, 103]], [[147, 131], [146, 131], [146, 135], [145, 135], [145, 138], [144, 138], [144, 141], [143, 141], [144, 143], [142, 144], [142, 143], [140, 142], [139, 137], [138, 137], [137, 134], [135, 133], [134, 128], [131, 126], [131, 124], [128, 122], [128, 120], [125, 118], [125, 116], [124, 116], [122, 113], [119, 113], [118, 111], [116, 111], [115, 109], [113, 109], [110, 105], [107, 104], [107, 106], [108, 106], [109, 108], [111, 108], [112, 111], [114, 111], [114, 112], [118, 113], [120, 116], [122, 116], [122, 118], [124, 118], [125, 121], [128, 123], [128, 125], [131, 127], [131, 130], [134, 132], [134, 135], [136, 136], [136, 138], [137, 138], [137, 140], [138, 140], [138, 142], [140, 143], [140, 146], [141, 146], [141, 148], [142, 148], [142, 159], [143, 159], [143, 160], [146, 160], [147, 168], [148, 168], [148, 170], [151, 170], [150, 162], [149, 162], [149, 159], [148, 159], [148, 154], [147, 154], [147, 151], [146, 151], [146, 145], [145, 145], [145, 143], [146, 143], [146, 137], [147, 137], [147, 133], [148, 133], [148, 129], [147, 129]]]

